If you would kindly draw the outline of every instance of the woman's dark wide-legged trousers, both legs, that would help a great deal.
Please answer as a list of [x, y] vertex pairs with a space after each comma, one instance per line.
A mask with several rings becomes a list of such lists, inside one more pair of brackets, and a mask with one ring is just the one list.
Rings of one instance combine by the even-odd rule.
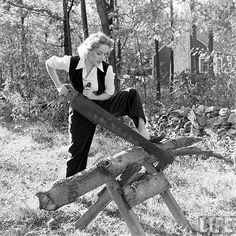
[[[116, 117], [129, 116], [136, 128], [139, 117], [146, 122], [138, 92], [135, 89], [122, 91], [106, 101], [94, 101]], [[93, 140], [96, 125], [84, 118], [75, 110], [70, 110], [69, 132], [71, 159], [67, 162], [66, 177], [72, 176], [86, 168], [89, 149]]]

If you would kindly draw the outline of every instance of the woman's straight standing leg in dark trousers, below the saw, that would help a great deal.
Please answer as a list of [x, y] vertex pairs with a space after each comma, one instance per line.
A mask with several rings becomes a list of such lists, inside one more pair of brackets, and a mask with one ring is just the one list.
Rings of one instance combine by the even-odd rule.
[[69, 153], [71, 159], [67, 162], [66, 177], [72, 176], [87, 166], [90, 146], [93, 140], [96, 125], [71, 110], [69, 116], [69, 133], [71, 145]]

